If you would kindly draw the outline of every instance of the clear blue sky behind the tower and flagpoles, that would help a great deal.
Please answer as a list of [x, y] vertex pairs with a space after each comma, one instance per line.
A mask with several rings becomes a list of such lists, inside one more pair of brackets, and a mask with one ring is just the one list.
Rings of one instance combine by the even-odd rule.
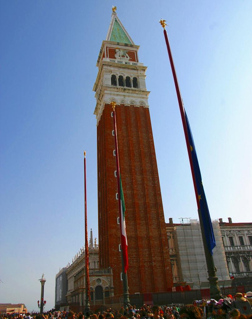
[[112, 4], [148, 66], [165, 219], [197, 218], [160, 18], [167, 28], [210, 215], [251, 222], [251, 1], [1, 1], [0, 302], [45, 310], [55, 274], [98, 235], [95, 67]]

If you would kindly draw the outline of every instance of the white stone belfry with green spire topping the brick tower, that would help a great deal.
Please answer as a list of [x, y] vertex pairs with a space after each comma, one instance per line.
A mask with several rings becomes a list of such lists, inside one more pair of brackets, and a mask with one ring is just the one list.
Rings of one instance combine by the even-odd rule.
[[98, 74], [93, 91], [96, 106], [94, 114], [98, 125], [105, 104], [116, 104], [149, 108], [149, 91], [146, 89], [145, 72], [147, 67], [139, 62], [139, 46], [134, 44], [125, 27], [112, 13], [109, 30], [96, 66]]

